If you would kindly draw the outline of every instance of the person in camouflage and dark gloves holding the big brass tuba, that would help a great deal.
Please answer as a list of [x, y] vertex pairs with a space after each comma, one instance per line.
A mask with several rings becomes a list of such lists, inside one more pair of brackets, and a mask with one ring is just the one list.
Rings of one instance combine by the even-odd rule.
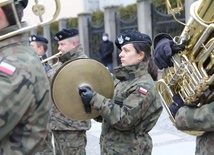
[[[182, 48], [177, 46], [168, 34], [157, 35], [154, 39], [154, 47], [154, 60], [159, 69], [173, 66], [171, 57], [182, 51]], [[208, 90], [210, 92], [206, 92], [206, 95], [212, 94], [213, 96], [213, 84], [210, 84]], [[213, 98], [206, 97], [206, 99], [207, 103], [203, 106], [190, 107], [184, 106], [184, 102], [179, 95], [174, 95], [174, 102], [169, 107], [175, 118], [177, 129], [204, 132], [203, 135], [197, 136], [195, 155], [214, 154], [214, 101]]]

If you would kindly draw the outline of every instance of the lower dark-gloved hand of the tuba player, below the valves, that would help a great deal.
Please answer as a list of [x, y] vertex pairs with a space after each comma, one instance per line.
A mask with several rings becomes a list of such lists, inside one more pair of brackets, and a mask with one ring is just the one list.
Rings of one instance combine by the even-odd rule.
[[184, 106], [184, 102], [181, 99], [181, 97], [177, 94], [175, 94], [173, 97], [173, 103], [169, 106], [169, 110], [172, 113], [172, 116], [175, 118], [175, 115], [177, 113], [177, 111], [180, 109], [180, 107]]

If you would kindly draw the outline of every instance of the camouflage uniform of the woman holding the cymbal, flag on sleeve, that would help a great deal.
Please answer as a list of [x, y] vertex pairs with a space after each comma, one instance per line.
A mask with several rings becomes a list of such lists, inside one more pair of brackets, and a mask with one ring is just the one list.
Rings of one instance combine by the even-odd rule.
[[141, 62], [115, 68], [120, 81], [115, 82], [112, 100], [94, 92], [90, 104], [103, 117], [102, 155], [151, 155], [148, 132], [156, 124], [162, 104], [147, 67], [147, 62]]

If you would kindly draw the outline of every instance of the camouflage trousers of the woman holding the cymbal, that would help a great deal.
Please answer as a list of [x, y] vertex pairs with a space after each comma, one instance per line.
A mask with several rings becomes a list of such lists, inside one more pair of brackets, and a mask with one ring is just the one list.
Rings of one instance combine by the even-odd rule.
[[109, 132], [100, 137], [101, 155], [151, 155], [152, 147], [148, 134]]

